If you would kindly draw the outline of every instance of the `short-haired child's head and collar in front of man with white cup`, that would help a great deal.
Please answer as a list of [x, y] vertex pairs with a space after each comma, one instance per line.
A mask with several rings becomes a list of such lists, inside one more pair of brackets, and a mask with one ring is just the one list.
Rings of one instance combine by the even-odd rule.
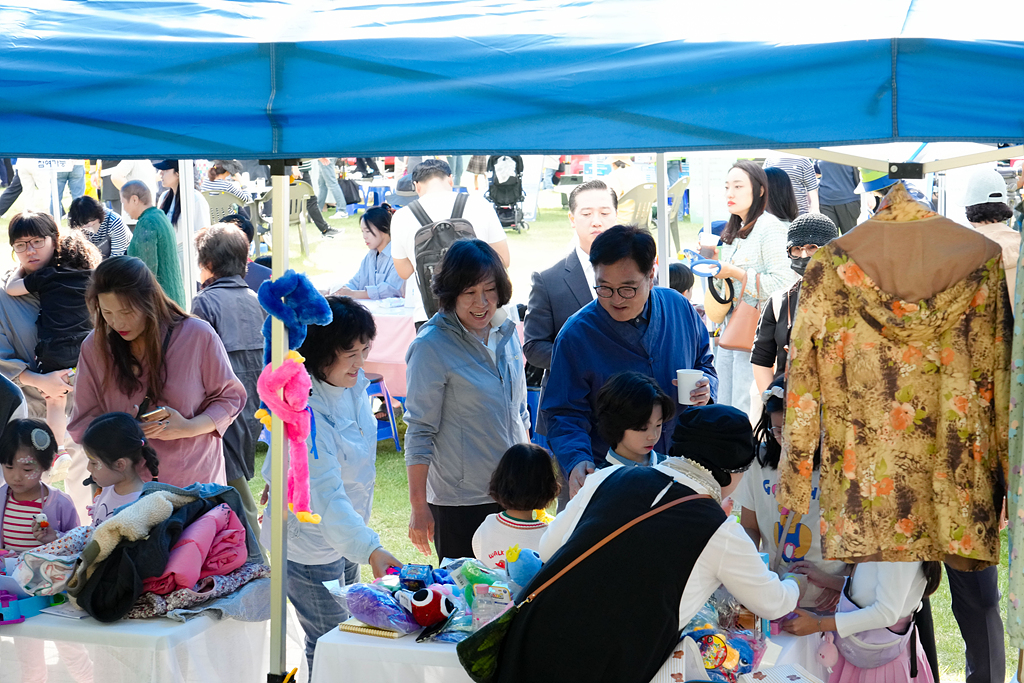
[[651, 378], [640, 373], [609, 377], [597, 392], [597, 431], [609, 446], [598, 469], [660, 463], [667, 456], [654, 453], [654, 444], [675, 415], [676, 401]]

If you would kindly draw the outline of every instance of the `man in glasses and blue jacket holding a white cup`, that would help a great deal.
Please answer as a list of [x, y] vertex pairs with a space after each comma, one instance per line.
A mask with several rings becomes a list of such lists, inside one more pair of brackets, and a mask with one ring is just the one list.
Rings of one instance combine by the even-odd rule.
[[[608, 452], [594, 419], [597, 392], [609, 377], [642, 373], [677, 397], [676, 371], [700, 370], [705, 379], [690, 400], [703, 405], [717, 394], [708, 329], [685, 297], [652, 287], [656, 254], [650, 233], [634, 226], [615, 225], [594, 240], [590, 262], [597, 300], [570, 317], [555, 339], [541, 410], [570, 496]], [[686, 408], [680, 405], [677, 415]], [[675, 419], [664, 425], [655, 451], [668, 453], [675, 425]]]

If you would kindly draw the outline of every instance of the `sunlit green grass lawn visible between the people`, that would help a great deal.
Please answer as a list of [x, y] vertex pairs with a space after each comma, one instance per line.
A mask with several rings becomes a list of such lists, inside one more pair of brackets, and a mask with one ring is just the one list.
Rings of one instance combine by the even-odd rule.
[[[547, 204], [557, 206], [557, 199]], [[15, 205], [7, 215], [0, 219], [0, 227], [6, 227], [10, 216], [19, 210]], [[299, 232], [293, 227], [290, 233], [290, 267], [305, 271], [310, 275], [328, 272], [337, 273], [347, 280], [350, 273], [358, 267], [366, 254], [366, 246], [359, 233], [357, 217], [334, 217], [332, 210], [325, 211], [329, 222], [343, 228], [343, 234], [334, 239], [324, 239], [312, 225], [307, 227], [310, 253], [303, 256], [300, 253]], [[696, 243], [699, 225], [688, 221], [680, 224], [680, 237], [684, 243]], [[513, 300], [525, 303], [529, 295], [530, 275], [535, 270], [543, 269], [563, 258], [567, 253], [570, 239], [568, 219], [563, 209], [542, 208], [538, 218], [530, 223], [530, 229], [522, 233], [508, 232], [509, 250], [512, 263], [510, 274], [513, 284]], [[0, 256], [10, 259], [11, 254]], [[400, 425], [404, 434], [404, 425]], [[257, 462], [257, 476], [250, 482], [254, 496], [259, 500], [263, 490], [263, 479], [258, 472], [265, 457], [265, 446], [260, 444]], [[377, 488], [374, 499], [373, 518], [371, 526], [381, 536], [385, 547], [403, 561], [432, 561], [420, 555], [408, 537], [409, 496], [406, 464], [402, 456], [394, 451], [390, 440], [381, 441], [377, 450]], [[1007, 541], [1002, 539], [1002, 562], [999, 566], [999, 587], [1004, 593], [1007, 590]], [[369, 580], [370, 573], [364, 567], [362, 578]], [[1004, 612], [1005, 612], [1004, 605]], [[964, 641], [961, 638], [956, 622], [949, 607], [949, 590], [943, 581], [939, 591], [932, 597], [932, 613], [935, 618], [936, 639], [938, 641], [939, 663], [942, 677], [947, 680], [963, 680], [964, 678]], [[1004, 613], [1004, 617], [1006, 614]], [[1007, 678], [1010, 679], [1016, 663], [1016, 651], [1009, 645]]]

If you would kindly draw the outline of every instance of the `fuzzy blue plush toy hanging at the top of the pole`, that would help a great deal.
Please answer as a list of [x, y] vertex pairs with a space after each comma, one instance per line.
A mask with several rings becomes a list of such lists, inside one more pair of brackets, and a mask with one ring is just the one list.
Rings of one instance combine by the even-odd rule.
[[260, 305], [267, 315], [263, 322], [263, 364], [270, 364], [270, 318], [276, 317], [288, 330], [288, 348], [297, 349], [306, 340], [307, 325], [330, 325], [331, 306], [301, 272], [288, 270], [284, 275], [260, 285]]

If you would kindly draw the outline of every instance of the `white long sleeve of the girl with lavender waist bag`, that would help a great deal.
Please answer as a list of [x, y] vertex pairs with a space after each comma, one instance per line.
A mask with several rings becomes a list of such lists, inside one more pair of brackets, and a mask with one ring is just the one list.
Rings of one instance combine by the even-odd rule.
[[836, 614], [836, 632], [851, 636], [871, 629], [888, 629], [909, 616], [921, 604], [927, 581], [921, 562], [862, 562], [850, 584], [850, 598], [864, 605]]

